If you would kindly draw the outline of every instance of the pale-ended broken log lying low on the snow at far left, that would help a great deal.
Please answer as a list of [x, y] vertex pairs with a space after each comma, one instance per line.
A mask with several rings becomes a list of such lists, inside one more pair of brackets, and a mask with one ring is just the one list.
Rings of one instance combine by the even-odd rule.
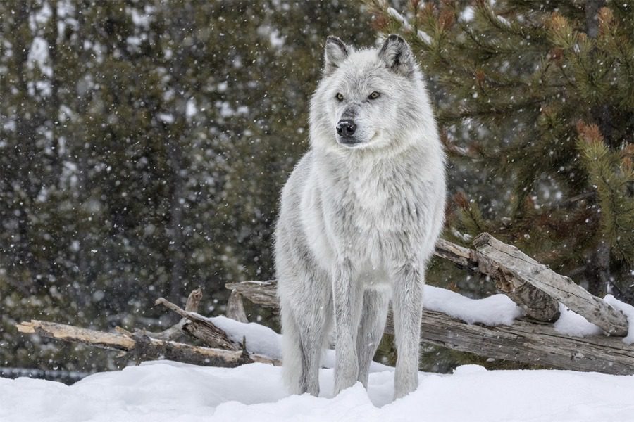
[[280, 364], [278, 359], [271, 359], [260, 354], [249, 354], [246, 350], [220, 350], [192, 346], [174, 341], [158, 340], [142, 333], [104, 333], [35, 319], [18, 324], [18, 331], [104, 349], [120, 350], [127, 352], [135, 360], [170, 359], [189, 364], [228, 368], [252, 362]]

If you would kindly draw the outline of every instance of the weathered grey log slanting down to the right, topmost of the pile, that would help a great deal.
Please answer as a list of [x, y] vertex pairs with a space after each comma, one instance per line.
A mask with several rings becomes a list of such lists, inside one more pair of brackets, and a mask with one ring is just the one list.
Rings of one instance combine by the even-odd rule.
[[628, 334], [628, 320], [621, 311], [591, 295], [568, 277], [533, 260], [518, 248], [498, 241], [488, 233], [480, 234], [474, 239], [473, 245], [478, 251], [478, 262], [483, 267], [498, 269], [511, 283], [519, 280], [530, 284], [554, 300], [559, 300], [606, 333], [621, 336]]

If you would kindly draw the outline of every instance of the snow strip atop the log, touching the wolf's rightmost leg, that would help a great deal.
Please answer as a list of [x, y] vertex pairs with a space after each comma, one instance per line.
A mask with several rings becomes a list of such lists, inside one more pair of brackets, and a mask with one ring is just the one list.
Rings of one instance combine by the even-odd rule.
[[512, 325], [523, 311], [506, 295], [471, 299], [445, 288], [425, 286], [423, 304], [430, 311], [442, 312], [468, 324]]

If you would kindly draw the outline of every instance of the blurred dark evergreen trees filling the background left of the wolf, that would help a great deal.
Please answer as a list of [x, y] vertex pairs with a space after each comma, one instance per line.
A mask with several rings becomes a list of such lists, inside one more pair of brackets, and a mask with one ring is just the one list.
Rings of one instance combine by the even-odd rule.
[[147, 326], [159, 296], [202, 286], [212, 314], [273, 278], [323, 40], [367, 26], [343, 1], [0, 1], [0, 366], [112, 367], [23, 319]]

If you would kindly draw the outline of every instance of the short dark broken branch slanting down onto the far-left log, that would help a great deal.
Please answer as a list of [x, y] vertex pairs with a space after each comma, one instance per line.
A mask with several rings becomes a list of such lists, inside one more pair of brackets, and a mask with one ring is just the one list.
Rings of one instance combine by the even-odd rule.
[[164, 298], [158, 298], [154, 303], [155, 305], [163, 305], [182, 316], [183, 319], [185, 319], [185, 323], [182, 324], [182, 331], [191, 335], [193, 338], [201, 340], [205, 345], [224, 350], [242, 349], [238, 343], [229, 338], [227, 333], [204, 316], [195, 312], [187, 312]]

